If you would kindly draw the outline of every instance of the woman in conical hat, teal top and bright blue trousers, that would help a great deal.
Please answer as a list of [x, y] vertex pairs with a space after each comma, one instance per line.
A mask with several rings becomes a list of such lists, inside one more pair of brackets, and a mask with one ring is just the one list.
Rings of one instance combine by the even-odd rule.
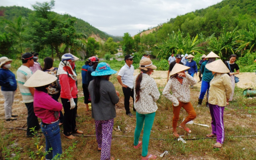
[[206, 62], [203, 62], [202, 66], [201, 66], [201, 72], [203, 74], [203, 79], [202, 79], [201, 90], [200, 90], [200, 95], [198, 98], [197, 107], [201, 107], [203, 97], [205, 97], [206, 91], [207, 91], [206, 106], [209, 107], [208, 93], [209, 93], [210, 81], [211, 81], [211, 79], [213, 79], [213, 74], [211, 73], [211, 71], [209, 71], [208, 69], [205, 68], [205, 65], [215, 61], [215, 59], [219, 58], [219, 56], [217, 56], [215, 53], [213, 53], [211, 51], [205, 58], [208, 60]]

